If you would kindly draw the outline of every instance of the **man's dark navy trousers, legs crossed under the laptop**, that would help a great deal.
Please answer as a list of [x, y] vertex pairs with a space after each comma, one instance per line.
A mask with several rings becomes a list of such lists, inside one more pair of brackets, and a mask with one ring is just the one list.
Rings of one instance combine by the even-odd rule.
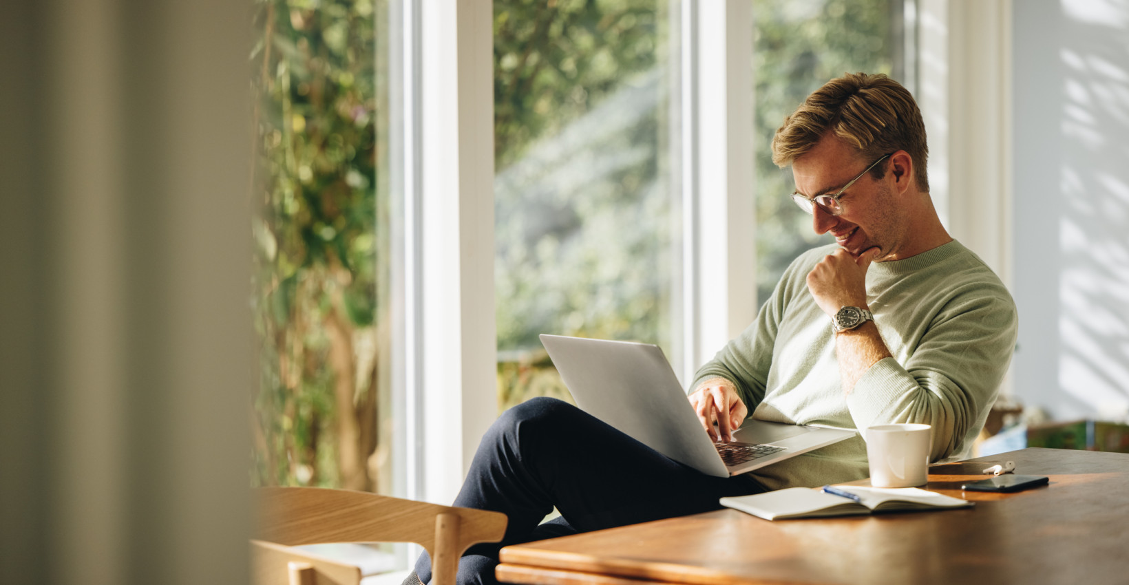
[[[471, 547], [457, 582], [493, 584], [506, 545], [718, 509], [718, 498], [764, 491], [747, 475], [714, 478], [660, 455], [583, 410], [536, 398], [482, 437], [455, 506], [509, 518], [501, 542]], [[542, 524], [553, 507], [561, 516]], [[431, 578], [425, 552], [420, 580]]]

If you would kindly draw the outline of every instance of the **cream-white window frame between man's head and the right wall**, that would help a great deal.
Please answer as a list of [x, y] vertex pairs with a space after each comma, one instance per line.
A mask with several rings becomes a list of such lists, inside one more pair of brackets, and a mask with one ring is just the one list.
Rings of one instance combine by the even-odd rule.
[[918, 103], [929, 186], [949, 234], [1010, 280], [1007, 0], [921, 0]]

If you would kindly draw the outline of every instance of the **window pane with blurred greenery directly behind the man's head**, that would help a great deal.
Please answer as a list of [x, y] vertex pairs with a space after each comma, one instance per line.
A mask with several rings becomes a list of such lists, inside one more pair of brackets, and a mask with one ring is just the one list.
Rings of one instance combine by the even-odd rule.
[[772, 164], [772, 134], [808, 94], [844, 72], [886, 73], [912, 90], [913, 79], [907, 78], [912, 68], [904, 64], [912, 7], [907, 0], [753, 1], [760, 303], [800, 252], [833, 242], [816, 236], [812, 217], [788, 199], [795, 189], [791, 172]]

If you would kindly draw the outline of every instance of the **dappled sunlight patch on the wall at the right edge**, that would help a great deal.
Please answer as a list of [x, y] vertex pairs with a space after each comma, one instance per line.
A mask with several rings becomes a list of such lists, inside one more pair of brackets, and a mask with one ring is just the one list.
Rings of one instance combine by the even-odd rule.
[[1062, 140], [1058, 381], [1079, 414], [1124, 418], [1129, 414], [1129, 238], [1124, 235], [1129, 1], [1064, 0], [1060, 7], [1065, 19], [1059, 46], [1064, 82], [1058, 121]]

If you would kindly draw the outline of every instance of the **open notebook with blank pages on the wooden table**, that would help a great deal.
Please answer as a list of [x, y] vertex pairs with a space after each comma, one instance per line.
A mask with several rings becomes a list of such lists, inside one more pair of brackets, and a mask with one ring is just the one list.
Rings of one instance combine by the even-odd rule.
[[721, 505], [764, 519], [851, 516], [877, 512], [966, 508], [971, 501], [919, 488], [835, 486], [858, 496], [854, 501], [814, 488], [787, 488], [752, 496], [721, 498]]

